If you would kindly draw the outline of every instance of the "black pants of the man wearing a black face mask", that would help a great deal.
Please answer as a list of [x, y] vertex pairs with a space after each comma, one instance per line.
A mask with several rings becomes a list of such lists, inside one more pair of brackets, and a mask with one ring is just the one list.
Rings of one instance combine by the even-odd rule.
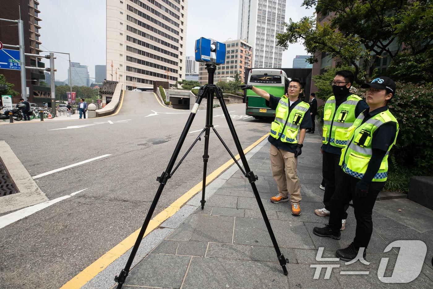
[[[323, 194], [323, 204], [325, 205], [325, 209], [328, 211], [332, 211], [331, 198], [335, 192], [335, 188], [338, 182], [345, 177], [347, 174], [343, 172], [341, 167], [339, 166], [340, 155], [339, 154], [331, 154], [329, 152], [323, 151], [323, 162], [322, 162], [322, 175], [323, 181], [325, 181], [325, 193]], [[344, 207], [344, 215], [343, 219], [347, 219], [346, 210], [349, 208], [349, 201]], [[340, 221], [341, 223], [341, 221]]]

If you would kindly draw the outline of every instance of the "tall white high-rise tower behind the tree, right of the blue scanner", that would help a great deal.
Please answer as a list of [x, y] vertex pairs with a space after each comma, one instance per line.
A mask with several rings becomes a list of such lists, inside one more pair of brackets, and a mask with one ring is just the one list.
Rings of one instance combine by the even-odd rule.
[[283, 48], [276, 33], [284, 33], [286, 0], [239, 0], [238, 38], [254, 49], [253, 67], [281, 67]]

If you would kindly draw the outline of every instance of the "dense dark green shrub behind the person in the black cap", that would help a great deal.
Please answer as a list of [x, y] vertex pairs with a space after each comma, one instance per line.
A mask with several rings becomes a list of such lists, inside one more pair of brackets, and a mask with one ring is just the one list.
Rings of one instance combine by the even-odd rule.
[[407, 167], [414, 175], [432, 175], [433, 85], [397, 82], [388, 107], [400, 128], [390, 153], [392, 170]]

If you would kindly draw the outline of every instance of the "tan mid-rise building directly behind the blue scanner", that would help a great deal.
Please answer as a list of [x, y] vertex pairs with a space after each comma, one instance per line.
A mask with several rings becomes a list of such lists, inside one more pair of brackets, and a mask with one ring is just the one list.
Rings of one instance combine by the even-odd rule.
[[[252, 46], [245, 40], [239, 39], [229, 39], [224, 43], [226, 44], [226, 63], [216, 66], [213, 82], [233, 80], [236, 72], [243, 81], [245, 69], [251, 68]], [[208, 83], [205, 62], [200, 62], [198, 74], [200, 84]]]

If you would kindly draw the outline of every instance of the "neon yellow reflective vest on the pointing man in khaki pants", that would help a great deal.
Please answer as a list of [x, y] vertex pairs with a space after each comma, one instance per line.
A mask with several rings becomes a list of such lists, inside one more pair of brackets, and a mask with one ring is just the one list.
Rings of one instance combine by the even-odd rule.
[[[305, 113], [310, 108], [306, 102], [299, 102], [290, 110], [289, 99], [281, 97], [275, 109], [275, 120], [271, 124], [270, 135], [282, 142], [296, 144], [296, 135]], [[283, 131], [284, 130], [284, 131]]]

